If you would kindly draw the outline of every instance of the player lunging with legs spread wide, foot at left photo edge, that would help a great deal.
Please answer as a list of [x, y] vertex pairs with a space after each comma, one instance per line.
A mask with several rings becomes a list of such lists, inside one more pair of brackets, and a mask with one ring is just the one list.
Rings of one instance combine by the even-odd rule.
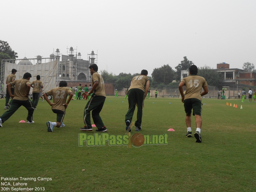
[[[2, 127], [2, 123], [5, 122], [7, 119], [9, 119], [15, 113], [15, 111], [18, 110], [18, 108], [20, 106], [24, 106], [28, 111], [27, 123], [28, 124], [34, 123], [33, 122], [34, 108], [32, 107], [32, 102], [30, 101], [30, 99], [28, 97], [29, 92], [30, 92], [30, 81], [29, 80], [31, 77], [32, 76], [30, 73], [25, 73], [23, 75], [22, 79], [15, 80], [15, 81], [7, 84], [8, 93], [10, 94], [10, 97], [13, 99], [13, 101], [11, 102], [10, 109], [0, 116], [0, 126], [1, 127]], [[12, 86], [15, 86], [15, 89], [14, 89], [15, 95], [13, 95], [11, 93]]]

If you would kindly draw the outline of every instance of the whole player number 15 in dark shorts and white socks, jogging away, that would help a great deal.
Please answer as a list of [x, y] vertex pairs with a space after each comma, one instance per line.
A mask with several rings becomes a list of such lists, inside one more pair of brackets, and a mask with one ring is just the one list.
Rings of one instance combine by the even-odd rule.
[[[194, 134], [196, 138], [196, 142], [201, 143], [201, 126], [202, 126], [202, 101], [201, 97], [208, 93], [207, 82], [204, 77], [200, 77], [197, 75], [198, 68], [195, 65], [191, 65], [189, 67], [189, 76], [185, 77], [181, 80], [179, 84], [179, 91], [181, 94], [181, 101], [184, 103], [184, 108], [186, 112], [186, 124], [187, 124], [187, 137], [192, 136], [191, 130], [191, 112], [193, 109], [193, 115], [196, 118], [196, 132]], [[183, 86], [186, 86], [186, 94], [183, 94]], [[202, 87], [204, 89], [201, 92]]]

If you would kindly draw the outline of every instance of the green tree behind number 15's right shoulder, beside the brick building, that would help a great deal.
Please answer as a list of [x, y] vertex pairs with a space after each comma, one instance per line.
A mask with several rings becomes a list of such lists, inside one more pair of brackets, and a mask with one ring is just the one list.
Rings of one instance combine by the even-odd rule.
[[213, 68], [210, 68], [206, 65], [198, 69], [198, 75], [205, 78], [207, 85], [218, 87], [223, 82], [221, 74], [216, 72], [216, 70], [214, 70]]

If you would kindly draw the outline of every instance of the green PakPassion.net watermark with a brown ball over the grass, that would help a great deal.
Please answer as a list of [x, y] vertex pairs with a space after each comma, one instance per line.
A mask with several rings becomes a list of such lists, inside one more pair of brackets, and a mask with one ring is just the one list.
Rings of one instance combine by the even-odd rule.
[[109, 135], [108, 133], [94, 133], [94, 135], [87, 135], [86, 133], [78, 134], [78, 145], [83, 147], [84, 144], [88, 147], [93, 146], [121, 146], [126, 145], [127, 148], [141, 147], [142, 145], [167, 145], [168, 135], [142, 135], [141, 133], [134, 133], [131, 135], [127, 132], [125, 135]]

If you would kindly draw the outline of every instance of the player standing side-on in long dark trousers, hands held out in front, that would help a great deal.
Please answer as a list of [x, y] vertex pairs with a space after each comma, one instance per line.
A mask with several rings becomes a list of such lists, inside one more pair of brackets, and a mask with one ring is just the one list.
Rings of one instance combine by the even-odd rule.
[[100, 117], [100, 111], [104, 105], [106, 99], [105, 93], [105, 85], [104, 80], [100, 74], [98, 74], [98, 66], [96, 64], [92, 64], [89, 66], [90, 73], [92, 75], [92, 89], [88, 93], [83, 93], [85, 95], [85, 99], [92, 94], [91, 99], [87, 102], [84, 108], [84, 124], [85, 126], [80, 128], [81, 131], [92, 131], [91, 124], [91, 111], [92, 111], [92, 119], [94, 124], [96, 125], [96, 131], [106, 132], [108, 131], [102, 119]]

